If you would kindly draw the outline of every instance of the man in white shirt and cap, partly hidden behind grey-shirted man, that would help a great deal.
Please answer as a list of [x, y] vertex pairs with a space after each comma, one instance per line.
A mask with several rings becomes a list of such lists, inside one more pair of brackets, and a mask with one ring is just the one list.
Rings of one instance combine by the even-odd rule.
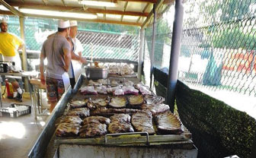
[[77, 31], [77, 21], [70, 21], [70, 32], [67, 40], [69, 40], [69, 43], [71, 43], [72, 46], [72, 63], [69, 70], [70, 84], [72, 88], [74, 87], [75, 82], [78, 80], [78, 77], [81, 74], [82, 64], [87, 64], [86, 59], [82, 57], [82, 44], [77, 38], [75, 38], [75, 36], [77, 35]]

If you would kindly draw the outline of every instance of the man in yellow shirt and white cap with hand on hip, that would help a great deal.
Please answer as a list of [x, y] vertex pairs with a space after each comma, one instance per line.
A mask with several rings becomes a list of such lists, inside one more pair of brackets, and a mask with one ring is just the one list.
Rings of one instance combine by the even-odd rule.
[[[7, 62], [15, 63], [15, 71], [21, 71], [21, 58], [18, 50], [24, 46], [24, 41], [18, 36], [8, 33], [8, 22], [5, 18], [2, 18], [1, 22], [1, 33], [0, 33], [0, 53], [3, 55], [3, 60]], [[23, 90], [18, 84], [21, 81], [21, 77], [6, 76], [8, 81], [11, 82], [14, 90], [14, 100], [22, 102]], [[17, 80], [16, 80], [17, 79]], [[22, 81], [21, 81], [22, 83]]]

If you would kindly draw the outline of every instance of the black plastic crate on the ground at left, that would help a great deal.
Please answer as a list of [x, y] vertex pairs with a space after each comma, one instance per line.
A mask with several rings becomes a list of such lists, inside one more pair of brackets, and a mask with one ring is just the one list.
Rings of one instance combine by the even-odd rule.
[[13, 103], [8, 108], [0, 108], [0, 116], [18, 118], [21, 115], [27, 115], [31, 113], [31, 106], [27, 106], [27, 109], [24, 109], [22, 111], [11, 109], [11, 108], [16, 108], [18, 106], [27, 106], [27, 105]]

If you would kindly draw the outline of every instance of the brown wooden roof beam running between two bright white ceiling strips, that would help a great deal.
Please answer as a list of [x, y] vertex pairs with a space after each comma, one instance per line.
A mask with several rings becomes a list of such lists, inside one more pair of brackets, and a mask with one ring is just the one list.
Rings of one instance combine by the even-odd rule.
[[142, 16], [147, 17], [149, 13], [141, 13], [135, 11], [112, 11], [112, 10], [104, 10], [104, 9], [97, 9], [97, 8], [87, 8], [83, 11], [82, 7], [64, 7], [64, 6], [56, 6], [56, 5], [41, 5], [41, 4], [30, 4], [24, 5], [23, 3], [17, 2], [10, 2], [11, 6], [18, 6], [20, 8], [33, 8], [33, 9], [43, 9], [43, 10], [50, 10], [50, 11], [72, 11], [77, 13], [101, 13], [101, 14], [119, 14], [119, 15], [130, 15], [130, 16]]

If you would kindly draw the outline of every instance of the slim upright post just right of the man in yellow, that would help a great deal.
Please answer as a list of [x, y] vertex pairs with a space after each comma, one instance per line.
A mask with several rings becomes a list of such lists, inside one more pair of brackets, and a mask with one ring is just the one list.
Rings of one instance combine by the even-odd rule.
[[[24, 32], [24, 17], [19, 17], [20, 21], [20, 27], [21, 27], [21, 39], [25, 41], [25, 32]], [[27, 71], [27, 52], [26, 52], [26, 46], [22, 49], [22, 67], [24, 71]], [[25, 90], [28, 91], [28, 80], [27, 77], [25, 77]]]

